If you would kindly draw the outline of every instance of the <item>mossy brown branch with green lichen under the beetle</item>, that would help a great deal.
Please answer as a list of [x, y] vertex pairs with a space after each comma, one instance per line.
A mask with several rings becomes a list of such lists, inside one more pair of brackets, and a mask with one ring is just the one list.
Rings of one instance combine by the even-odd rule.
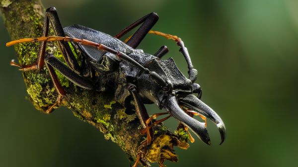
[[[0, 0], [0, 10], [11, 40], [34, 38], [42, 36], [44, 7], [39, 0]], [[3, 45], [3, 44], [1, 44]], [[48, 53], [59, 56], [56, 44], [49, 44]], [[32, 64], [36, 61], [40, 43], [23, 43], [15, 45], [15, 51], [21, 64]], [[52, 84], [48, 71], [31, 70], [23, 72], [30, 100], [36, 109], [45, 111], [55, 103], [57, 93]], [[141, 125], [136, 114], [128, 115], [125, 109], [114, 100], [111, 93], [87, 91], [65, 81], [60, 81], [68, 92], [62, 105], [73, 111], [79, 119], [99, 129], [106, 139], [111, 139], [128, 155], [135, 160], [138, 146], [145, 139], [140, 134]], [[162, 163], [165, 160], [177, 161], [173, 146], [186, 149], [188, 144], [184, 139], [186, 134], [179, 131], [176, 135], [163, 125], [154, 127], [155, 140], [149, 146], [148, 154], [143, 165], [148, 162]]]

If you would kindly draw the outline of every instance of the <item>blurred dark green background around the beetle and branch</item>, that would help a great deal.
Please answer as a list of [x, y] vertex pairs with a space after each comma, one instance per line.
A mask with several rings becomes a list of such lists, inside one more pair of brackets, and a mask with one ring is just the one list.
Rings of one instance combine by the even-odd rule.
[[[209, 121], [212, 146], [199, 139], [176, 148], [168, 167], [298, 167], [297, 0], [43, 0], [62, 25], [81, 24], [114, 35], [157, 12], [153, 30], [181, 37], [199, 71], [202, 100], [221, 115], [227, 138]], [[50, 115], [26, 100], [16, 58], [0, 18], [0, 167], [129, 167], [126, 155], [98, 130], [60, 108]], [[148, 35], [139, 48], [161, 45], [186, 74], [175, 43]], [[148, 105], [150, 114], [158, 112]], [[166, 124], [175, 129], [174, 118]], [[153, 167], [157, 167], [156, 164]]]

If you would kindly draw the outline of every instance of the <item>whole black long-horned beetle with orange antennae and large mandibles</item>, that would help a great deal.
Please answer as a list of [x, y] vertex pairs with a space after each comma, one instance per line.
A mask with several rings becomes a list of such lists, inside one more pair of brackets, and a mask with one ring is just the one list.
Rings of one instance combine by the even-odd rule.
[[[205, 119], [207, 117], [216, 123], [221, 133], [221, 144], [225, 139], [224, 122], [215, 111], [200, 100], [201, 88], [199, 84], [194, 83], [197, 78], [197, 70], [193, 68], [183, 41], [177, 36], [150, 30], [157, 20], [157, 14], [150, 13], [112, 37], [81, 25], [62, 28], [55, 7], [50, 7], [45, 12], [43, 37], [20, 39], [9, 42], [6, 46], [21, 42], [41, 42], [35, 64], [20, 65], [12, 60], [11, 65], [20, 67], [20, 70], [42, 69], [46, 65], [59, 94], [56, 103], [47, 110], [48, 113], [53, 110], [54, 106], [60, 105], [62, 98], [66, 95], [54, 68], [81, 88], [97, 91], [114, 90], [115, 99], [126, 107], [131, 104], [133, 99], [137, 115], [147, 133], [147, 140], [142, 142], [139, 148], [135, 167], [144, 157], [144, 149], [146, 151], [146, 146], [152, 140], [153, 133], [150, 127], [170, 116], [178, 119], [185, 129], [190, 128], [203, 142], [210, 145], [206, 122], [202, 123], [192, 117], [193, 114], [200, 114], [201, 117]], [[50, 24], [56, 36], [48, 36]], [[142, 24], [140, 28], [126, 42], [119, 40], [120, 37], [140, 24]], [[189, 78], [179, 71], [172, 58], [160, 59], [168, 52], [166, 46], [162, 46], [154, 55], [136, 49], [148, 33], [176, 41], [180, 47], [179, 51], [187, 61]], [[58, 46], [67, 65], [53, 55], [45, 56], [47, 41], [58, 41]], [[69, 42], [81, 53], [83, 57], [81, 66], [78, 65]], [[198, 97], [193, 93], [198, 93]], [[156, 113], [149, 117], [144, 104], [152, 103], [156, 103], [160, 109], [167, 112]], [[163, 114], [170, 115], [151, 123], [152, 118]]]

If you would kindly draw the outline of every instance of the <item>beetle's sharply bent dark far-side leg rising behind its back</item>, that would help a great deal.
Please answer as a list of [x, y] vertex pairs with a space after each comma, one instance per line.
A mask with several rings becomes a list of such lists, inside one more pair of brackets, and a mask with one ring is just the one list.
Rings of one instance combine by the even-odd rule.
[[130, 32], [132, 29], [140, 25], [141, 27], [134, 33], [134, 35], [131, 36], [131, 38], [126, 42], [126, 44], [132, 48], [137, 48], [138, 45], [142, 42], [142, 40], [145, 38], [145, 36], [148, 34], [149, 30], [154, 26], [154, 24], [158, 20], [158, 15], [156, 13], [149, 13], [148, 15], [140, 18], [133, 24], [126, 27], [124, 30], [116, 34], [115, 38], [121, 38], [126, 33]]

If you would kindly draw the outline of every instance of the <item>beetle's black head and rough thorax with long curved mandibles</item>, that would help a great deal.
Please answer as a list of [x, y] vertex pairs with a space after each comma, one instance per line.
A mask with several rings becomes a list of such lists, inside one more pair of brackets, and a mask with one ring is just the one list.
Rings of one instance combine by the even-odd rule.
[[[149, 99], [156, 102], [160, 109], [168, 111], [173, 117], [178, 119], [182, 124], [191, 129], [203, 142], [210, 145], [210, 138], [205, 123], [194, 119], [187, 114], [182, 108], [198, 113], [203, 117], [211, 119], [218, 127], [222, 142], [225, 139], [225, 126], [221, 117], [209, 106], [200, 100], [202, 95], [199, 84], [192, 84], [177, 68], [174, 60], [154, 59], [146, 64], [149, 70], [158, 73], [167, 83], [162, 87], [157, 83], [150, 81], [150, 78], [139, 79], [139, 87], [143, 99]], [[198, 93], [198, 97], [193, 93]]]

